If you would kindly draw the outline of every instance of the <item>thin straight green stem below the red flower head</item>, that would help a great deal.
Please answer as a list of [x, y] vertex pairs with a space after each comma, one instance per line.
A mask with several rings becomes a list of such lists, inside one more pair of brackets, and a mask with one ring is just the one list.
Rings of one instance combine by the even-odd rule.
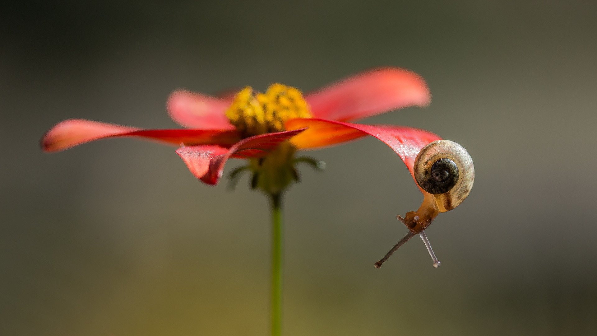
[[282, 195], [272, 195], [272, 336], [282, 335]]

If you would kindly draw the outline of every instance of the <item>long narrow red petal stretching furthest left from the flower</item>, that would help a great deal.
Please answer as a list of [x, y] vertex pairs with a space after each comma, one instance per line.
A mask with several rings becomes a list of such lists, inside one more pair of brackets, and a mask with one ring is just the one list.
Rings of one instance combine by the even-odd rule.
[[139, 130], [97, 121], [70, 119], [56, 124], [45, 133], [41, 146], [45, 152], [56, 152], [92, 140], [124, 136], [159, 140], [174, 145], [216, 144], [225, 147], [232, 146], [241, 139], [238, 132], [228, 130]]

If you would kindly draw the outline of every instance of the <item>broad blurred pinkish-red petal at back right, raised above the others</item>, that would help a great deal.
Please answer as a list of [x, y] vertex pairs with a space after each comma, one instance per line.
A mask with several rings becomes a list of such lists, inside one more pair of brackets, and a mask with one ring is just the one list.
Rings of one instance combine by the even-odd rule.
[[398, 68], [362, 72], [305, 96], [313, 117], [350, 121], [431, 100], [423, 78]]

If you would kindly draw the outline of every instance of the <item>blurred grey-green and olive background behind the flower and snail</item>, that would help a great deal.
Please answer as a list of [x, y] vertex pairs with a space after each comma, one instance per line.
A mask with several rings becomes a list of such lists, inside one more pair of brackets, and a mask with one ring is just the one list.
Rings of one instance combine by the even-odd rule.
[[[313, 90], [376, 66], [428, 108], [369, 118], [463, 145], [475, 186], [382, 268], [422, 199], [364, 139], [286, 198], [285, 335], [595, 335], [597, 7], [589, 1], [54, 1], [0, 11], [0, 334], [264, 335], [269, 212], [174, 148], [38, 142], [87, 118], [177, 127], [176, 88]], [[226, 172], [241, 164], [233, 160]], [[223, 181], [226, 182], [226, 181]]]

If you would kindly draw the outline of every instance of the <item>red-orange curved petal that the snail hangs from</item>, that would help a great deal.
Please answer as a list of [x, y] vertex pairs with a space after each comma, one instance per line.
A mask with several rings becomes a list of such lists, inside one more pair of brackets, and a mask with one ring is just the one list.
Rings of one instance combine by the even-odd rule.
[[429, 142], [441, 139], [431, 132], [405, 126], [370, 126], [321, 119], [293, 119], [286, 122], [287, 129], [304, 127], [309, 129], [290, 140], [297, 148], [317, 148], [373, 135], [398, 153], [411, 175], [413, 175], [414, 160], [421, 148]]

